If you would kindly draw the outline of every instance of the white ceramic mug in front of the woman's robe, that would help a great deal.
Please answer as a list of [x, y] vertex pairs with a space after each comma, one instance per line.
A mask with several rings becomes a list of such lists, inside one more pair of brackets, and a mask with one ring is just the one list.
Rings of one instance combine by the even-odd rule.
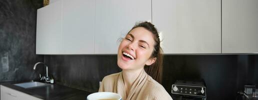
[[121, 100], [122, 97], [114, 92], [95, 92], [87, 96], [87, 100]]

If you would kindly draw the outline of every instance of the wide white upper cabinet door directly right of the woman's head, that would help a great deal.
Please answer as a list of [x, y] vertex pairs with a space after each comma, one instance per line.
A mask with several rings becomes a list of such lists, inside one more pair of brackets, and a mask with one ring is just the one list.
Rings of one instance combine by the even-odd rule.
[[220, 0], [152, 0], [164, 53], [221, 53]]

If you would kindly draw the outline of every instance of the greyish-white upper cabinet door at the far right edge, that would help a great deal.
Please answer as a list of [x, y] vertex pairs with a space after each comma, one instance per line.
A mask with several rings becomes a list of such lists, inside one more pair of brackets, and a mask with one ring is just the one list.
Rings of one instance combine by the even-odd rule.
[[258, 0], [222, 0], [222, 53], [258, 53]]

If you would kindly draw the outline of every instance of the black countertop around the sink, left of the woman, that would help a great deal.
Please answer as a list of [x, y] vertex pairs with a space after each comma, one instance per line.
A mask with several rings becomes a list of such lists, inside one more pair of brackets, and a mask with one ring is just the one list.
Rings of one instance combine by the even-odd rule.
[[35, 88], [23, 88], [14, 83], [20, 82], [0, 82], [1, 85], [27, 93], [29, 95], [41, 98], [41, 99], [86, 99], [87, 95], [92, 92], [74, 89], [71, 87], [63, 86], [60, 84], [50, 84], [47, 86], [35, 87]]

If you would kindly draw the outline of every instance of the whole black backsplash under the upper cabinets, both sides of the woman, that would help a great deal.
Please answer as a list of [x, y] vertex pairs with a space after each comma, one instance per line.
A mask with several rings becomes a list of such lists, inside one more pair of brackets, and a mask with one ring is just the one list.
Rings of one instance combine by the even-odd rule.
[[[58, 83], [96, 92], [98, 81], [121, 71], [116, 55], [45, 55]], [[235, 99], [245, 84], [258, 84], [258, 55], [165, 55], [162, 85], [170, 93], [176, 79], [203, 78], [208, 99]], [[258, 85], [256, 85], [258, 86]]]

